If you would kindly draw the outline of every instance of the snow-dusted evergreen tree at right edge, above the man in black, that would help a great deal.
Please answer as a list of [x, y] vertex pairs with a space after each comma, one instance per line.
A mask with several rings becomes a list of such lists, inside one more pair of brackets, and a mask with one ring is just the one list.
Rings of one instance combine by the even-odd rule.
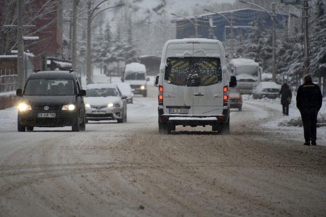
[[318, 0], [316, 5], [316, 25], [311, 40], [312, 59], [310, 71], [316, 76], [324, 76], [324, 73], [326, 73], [326, 9], [324, 0]]

